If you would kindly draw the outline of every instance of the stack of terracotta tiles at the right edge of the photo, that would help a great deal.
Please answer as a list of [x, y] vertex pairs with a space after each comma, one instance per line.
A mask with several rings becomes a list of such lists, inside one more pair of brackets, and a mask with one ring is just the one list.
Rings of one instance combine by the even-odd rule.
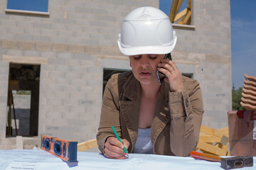
[[256, 111], [256, 77], [245, 74], [243, 86], [241, 106]]

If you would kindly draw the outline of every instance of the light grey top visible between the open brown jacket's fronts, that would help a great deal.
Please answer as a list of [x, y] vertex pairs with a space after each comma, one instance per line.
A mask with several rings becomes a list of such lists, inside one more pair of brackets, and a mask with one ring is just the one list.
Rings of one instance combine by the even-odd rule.
[[132, 153], [154, 154], [150, 134], [151, 134], [151, 128], [146, 128], [146, 129], [139, 128], [137, 141], [134, 145], [134, 149]]

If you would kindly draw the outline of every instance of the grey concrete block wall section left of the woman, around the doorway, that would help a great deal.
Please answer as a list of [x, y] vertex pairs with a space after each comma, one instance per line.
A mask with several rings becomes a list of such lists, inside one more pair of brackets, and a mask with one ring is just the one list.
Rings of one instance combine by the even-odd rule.
[[5, 137], [9, 62], [4, 55], [48, 60], [41, 64], [38, 137], [23, 137], [26, 147], [39, 145], [40, 135], [94, 139], [102, 103], [101, 60], [128, 66], [117, 47], [122, 19], [133, 8], [158, 7], [159, 2], [50, 0], [49, 16], [6, 13], [6, 4], [0, 1], [0, 148], [15, 148], [15, 137]]

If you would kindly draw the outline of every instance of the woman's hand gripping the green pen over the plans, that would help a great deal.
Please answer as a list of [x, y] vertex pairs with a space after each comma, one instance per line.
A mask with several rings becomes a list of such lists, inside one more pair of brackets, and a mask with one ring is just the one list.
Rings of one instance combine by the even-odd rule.
[[108, 137], [105, 142], [104, 155], [111, 159], [126, 159], [124, 147], [128, 149], [128, 140], [121, 140], [119, 142], [116, 137]]

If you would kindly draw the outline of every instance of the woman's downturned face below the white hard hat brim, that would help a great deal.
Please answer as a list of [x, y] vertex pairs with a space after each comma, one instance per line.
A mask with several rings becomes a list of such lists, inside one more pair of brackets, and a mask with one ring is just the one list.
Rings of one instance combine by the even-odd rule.
[[129, 60], [134, 77], [141, 84], [158, 84], [157, 64], [163, 58], [164, 55], [130, 55]]

